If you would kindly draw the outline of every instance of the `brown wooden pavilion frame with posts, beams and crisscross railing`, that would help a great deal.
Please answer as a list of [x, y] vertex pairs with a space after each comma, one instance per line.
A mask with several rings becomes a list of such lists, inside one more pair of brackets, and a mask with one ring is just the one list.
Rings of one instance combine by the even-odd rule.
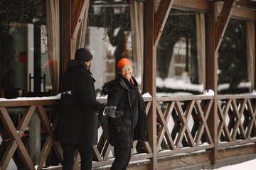
[[[166, 19], [174, 6], [189, 8], [208, 13], [208, 87], [217, 91], [217, 58], [220, 42], [231, 16], [256, 21], [256, 1], [247, 0], [140, 0], [146, 3], [146, 92], [151, 97], [144, 98], [149, 128], [149, 142], [134, 141], [134, 148], [140, 143], [143, 154], [134, 154], [128, 169], [214, 169], [218, 166], [238, 163], [256, 158], [256, 96], [218, 95], [210, 96], [156, 96], [156, 46], [164, 29]], [[63, 69], [75, 52], [75, 38], [82, 21], [88, 0], [63, 0]], [[242, 6], [242, 8], [240, 8]], [[255, 77], [255, 72], [253, 73]], [[100, 100], [105, 103], [105, 100]], [[166, 109], [161, 109], [162, 104]], [[62, 151], [58, 142], [53, 142], [55, 123], [51, 124], [46, 112], [47, 106], [58, 106], [58, 99], [39, 101], [1, 101], [0, 118], [9, 132], [11, 142], [6, 147], [1, 159], [1, 169], [6, 169], [11, 157], [17, 150], [26, 169], [43, 169], [50, 149], [54, 149], [60, 163], [63, 162]], [[8, 109], [17, 106], [26, 108], [23, 118], [15, 128], [11, 122]], [[46, 129], [46, 142], [41, 149], [36, 163], [26, 152], [21, 137], [31, 119], [33, 111]], [[175, 113], [180, 126], [174, 134], [168, 123]], [[193, 130], [188, 128], [188, 120], [196, 113]], [[225, 119], [232, 113], [235, 116], [233, 126], [227, 125]], [[242, 121], [245, 117], [245, 121]], [[159, 123], [159, 124], [157, 124]], [[159, 128], [157, 128], [159, 125]], [[232, 129], [232, 130], [230, 130]], [[237, 135], [240, 135], [237, 138]], [[156, 135], [157, 134], [157, 135]], [[224, 134], [224, 138], [223, 138]], [[102, 135], [103, 136], [103, 135]], [[186, 136], [187, 147], [181, 147]], [[205, 139], [202, 141], [202, 136]], [[163, 140], [169, 149], [160, 151]], [[109, 169], [113, 159], [108, 159], [111, 146], [100, 138], [99, 145], [94, 147], [93, 169]], [[132, 150], [133, 151], [133, 150]], [[132, 152], [133, 153], [133, 152]], [[80, 157], [75, 157], [74, 169], [79, 169]], [[52, 169], [61, 169], [61, 166]]]

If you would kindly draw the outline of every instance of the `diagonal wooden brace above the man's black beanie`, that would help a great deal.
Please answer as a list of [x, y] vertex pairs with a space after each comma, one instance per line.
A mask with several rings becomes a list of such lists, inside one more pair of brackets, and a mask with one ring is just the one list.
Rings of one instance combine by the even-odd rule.
[[83, 2], [80, 0], [74, 0], [72, 2], [72, 38], [76, 39], [78, 35], [78, 30], [80, 28], [80, 25], [82, 23], [82, 18], [85, 13], [85, 9], [88, 6], [90, 0], [84, 0]]

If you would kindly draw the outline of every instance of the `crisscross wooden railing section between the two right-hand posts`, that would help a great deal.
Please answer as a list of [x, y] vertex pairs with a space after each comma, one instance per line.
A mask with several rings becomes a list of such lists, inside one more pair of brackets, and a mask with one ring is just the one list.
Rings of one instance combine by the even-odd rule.
[[156, 101], [158, 157], [214, 147], [207, 123], [213, 96], [159, 97]]

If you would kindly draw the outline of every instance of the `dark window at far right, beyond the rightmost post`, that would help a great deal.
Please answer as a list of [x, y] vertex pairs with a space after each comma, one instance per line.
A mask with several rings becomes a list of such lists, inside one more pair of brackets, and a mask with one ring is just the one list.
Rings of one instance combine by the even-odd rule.
[[250, 91], [246, 33], [246, 21], [230, 18], [218, 50], [218, 94]]

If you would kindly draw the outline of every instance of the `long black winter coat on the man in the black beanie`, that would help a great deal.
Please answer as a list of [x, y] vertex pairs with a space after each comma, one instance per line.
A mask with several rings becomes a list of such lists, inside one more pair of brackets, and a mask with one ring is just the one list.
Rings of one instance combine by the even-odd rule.
[[70, 60], [60, 83], [55, 141], [96, 145], [97, 113], [102, 113], [106, 106], [96, 101], [95, 79], [85, 62]]

